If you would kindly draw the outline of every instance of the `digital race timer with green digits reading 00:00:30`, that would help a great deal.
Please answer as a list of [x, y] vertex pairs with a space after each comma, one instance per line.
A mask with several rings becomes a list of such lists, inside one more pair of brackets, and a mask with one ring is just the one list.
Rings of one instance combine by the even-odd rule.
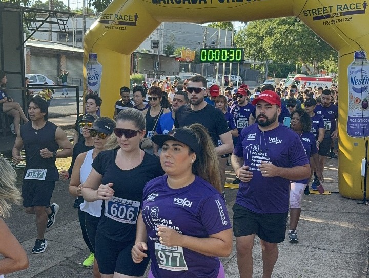
[[201, 63], [240, 63], [243, 60], [243, 48], [201, 48]]

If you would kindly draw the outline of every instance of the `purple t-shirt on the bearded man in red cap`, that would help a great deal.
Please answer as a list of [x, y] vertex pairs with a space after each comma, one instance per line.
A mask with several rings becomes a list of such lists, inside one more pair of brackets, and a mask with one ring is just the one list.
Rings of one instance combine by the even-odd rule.
[[251, 181], [240, 182], [236, 203], [256, 213], [288, 212], [290, 180], [262, 177], [257, 166], [261, 160], [283, 168], [309, 164], [299, 136], [282, 124], [265, 132], [253, 124], [242, 130], [233, 154], [253, 172]]

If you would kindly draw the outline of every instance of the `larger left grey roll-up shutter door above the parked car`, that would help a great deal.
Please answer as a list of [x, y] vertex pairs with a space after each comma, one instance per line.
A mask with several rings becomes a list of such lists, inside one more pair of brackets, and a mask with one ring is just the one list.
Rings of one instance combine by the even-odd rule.
[[[52, 81], [56, 81], [58, 75], [58, 58], [56, 56], [40, 56], [31, 53], [31, 74], [43, 74]], [[57, 84], [55, 82], [55, 84]]]

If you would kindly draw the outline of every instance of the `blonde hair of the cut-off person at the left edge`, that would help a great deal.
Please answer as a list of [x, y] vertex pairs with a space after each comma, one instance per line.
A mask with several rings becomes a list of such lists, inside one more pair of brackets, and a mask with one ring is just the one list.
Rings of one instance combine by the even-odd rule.
[[10, 203], [20, 204], [22, 196], [15, 186], [17, 176], [15, 170], [2, 157], [0, 157], [0, 173], [0, 216], [5, 218], [10, 215]]

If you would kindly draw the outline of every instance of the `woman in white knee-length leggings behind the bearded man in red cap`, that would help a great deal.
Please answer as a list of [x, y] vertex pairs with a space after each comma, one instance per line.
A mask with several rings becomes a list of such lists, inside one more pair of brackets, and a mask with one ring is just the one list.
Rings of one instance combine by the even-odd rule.
[[[319, 155], [315, 144], [315, 135], [310, 131], [312, 122], [308, 113], [302, 108], [298, 108], [291, 113], [291, 129], [300, 135], [300, 140], [305, 149], [306, 155], [312, 157], [317, 167], [319, 167]], [[324, 181], [320, 169], [317, 175], [321, 182]], [[298, 242], [297, 224], [301, 213], [301, 199], [309, 179], [291, 181], [290, 184], [290, 230], [288, 232], [290, 242]]]

